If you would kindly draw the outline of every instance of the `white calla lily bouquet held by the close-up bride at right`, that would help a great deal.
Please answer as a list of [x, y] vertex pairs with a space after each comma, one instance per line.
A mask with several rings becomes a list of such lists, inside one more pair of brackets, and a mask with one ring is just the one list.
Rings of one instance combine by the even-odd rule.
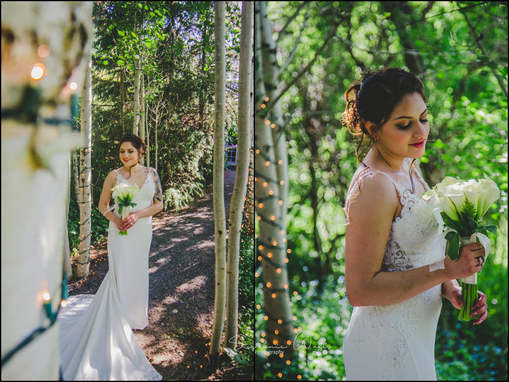
[[[475, 242], [476, 238], [483, 245], [488, 257], [491, 249], [488, 231], [495, 232], [497, 227], [480, 226], [478, 221], [499, 197], [497, 184], [486, 174], [485, 179], [470, 179], [468, 182], [446, 176], [433, 189], [422, 194], [422, 199], [429, 200], [430, 213], [433, 215], [435, 210], [439, 210], [443, 225], [448, 227], [442, 235], [448, 241], [446, 252], [449, 259], [456, 261], [460, 244]], [[458, 319], [469, 321], [470, 310], [477, 300], [477, 274], [463, 278], [461, 282], [464, 304]]]

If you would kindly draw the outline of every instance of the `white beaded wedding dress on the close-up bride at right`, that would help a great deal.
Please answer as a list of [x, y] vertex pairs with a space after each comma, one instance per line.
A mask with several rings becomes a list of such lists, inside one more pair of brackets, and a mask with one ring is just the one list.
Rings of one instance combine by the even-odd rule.
[[[385, 174], [370, 171], [359, 179], [373, 173]], [[425, 200], [385, 175], [396, 187], [403, 209], [392, 223], [381, 271], [428, 265], [431, 244], [443, 226], [436, 216], [430, 216]], [[347, 201], [349, 196], [350, 193]], [[347, 380], [437, 380], [435, 334], [442, 308], [441, 293], [439, 284], [398, 304], [354, 307], [343, 343]]]

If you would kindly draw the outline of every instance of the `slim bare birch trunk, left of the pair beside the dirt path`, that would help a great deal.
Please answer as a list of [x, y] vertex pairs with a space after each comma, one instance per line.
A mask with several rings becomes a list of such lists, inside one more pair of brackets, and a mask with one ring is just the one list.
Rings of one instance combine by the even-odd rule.
[[224, 214], [224, 107], [226, 100], [225, 65], [225, 4], [214, 2], [215, 44], [215, 110], [214, 110], [214, 241], [215, 241], [215, 296], [214, 323], [209, 349], [211, 356], [219, 354], [221, 334], [224, 327], [226, 299], [226, 216]]

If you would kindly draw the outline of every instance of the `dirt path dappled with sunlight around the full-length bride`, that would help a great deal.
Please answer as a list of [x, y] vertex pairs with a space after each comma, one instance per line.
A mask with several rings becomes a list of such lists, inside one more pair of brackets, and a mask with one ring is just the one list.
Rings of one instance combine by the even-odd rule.
[[[225, 171], [227, 225], [234, 181], [235, 171]], [[133, 332], [163, 380], [238, 379], [229, 375], [235, 368], [227, 356], [216, 361], [207, 356], [214, 311], [212, 188], [210, 182], [203, 197], [179, 212], [163, 210], [153, 217], [149, 325]], [[92, 247], [90, 276], [81, 284], [69, 280], [70, 295], [97, 292], [108, 271], [106, 249], [106, 241]]]

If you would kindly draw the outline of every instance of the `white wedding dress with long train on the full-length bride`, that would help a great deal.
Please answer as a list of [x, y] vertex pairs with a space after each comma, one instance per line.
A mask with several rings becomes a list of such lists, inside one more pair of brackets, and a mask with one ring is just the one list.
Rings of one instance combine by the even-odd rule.
[[[115, 170], [116, 171], [116, 170]], [[117, 183], [127, 182], [117, 172]], [[155, 184], [149, 171], [133, 198], [132, 212], [152, 205]], [[121, 217], [115, 201], [115, 215]], [[148, 260], [152, 216], [119, 235], [109, 222], [109, 270], [97, 294], [70, 296], [61, 308], [60, 354], [64, 380], [161, 380], [131, 329], [149, 324]]]

